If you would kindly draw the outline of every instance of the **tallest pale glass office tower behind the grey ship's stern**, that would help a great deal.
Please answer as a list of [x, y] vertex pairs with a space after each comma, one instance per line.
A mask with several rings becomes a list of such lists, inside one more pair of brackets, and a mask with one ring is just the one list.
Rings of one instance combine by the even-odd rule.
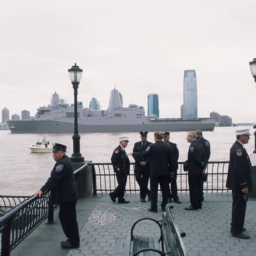
[[184, 71], [183, 118], [197, 118], [197, 83], [195, 70]]

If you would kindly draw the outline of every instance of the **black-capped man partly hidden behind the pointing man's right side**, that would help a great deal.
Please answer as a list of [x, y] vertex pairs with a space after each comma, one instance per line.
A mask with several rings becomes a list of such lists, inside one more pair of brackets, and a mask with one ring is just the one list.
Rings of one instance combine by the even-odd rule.
[[[173, 202], [175, 203], [182, 203], [178, 197], [178, 190], [177, 190], [177, 170], [179, 169], [178, 165], [178, 159], [179, 159], [179, 149], [177, 147], [177, 144], [170, 142], [170, 133], [169, 132], [163, 132], [163, 141], [167, 144], [169, 144], [172, 148], [172, 153], [173, 153], [173, 172], [171, 172], [171, 176], [169, 176], [169, 183], [171, 186], [168, 188], [168, 202]], [[169, 186], [169, 185], [168, 185]]]

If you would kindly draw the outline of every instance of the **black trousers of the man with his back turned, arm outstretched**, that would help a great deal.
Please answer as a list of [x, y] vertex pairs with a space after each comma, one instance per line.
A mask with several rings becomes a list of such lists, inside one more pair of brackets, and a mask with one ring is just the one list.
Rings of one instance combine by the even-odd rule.
[[162, 209], [168, 203], [168, 175], [166, 176], [150, 176], [150, 191], [151, 191], [151, 209], [157, 210], [157, 194], [158, 184], [162, 190]]

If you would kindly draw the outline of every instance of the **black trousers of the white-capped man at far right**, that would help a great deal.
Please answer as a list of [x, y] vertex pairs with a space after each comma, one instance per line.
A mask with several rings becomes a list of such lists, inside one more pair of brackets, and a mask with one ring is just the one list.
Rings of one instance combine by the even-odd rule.
[[231, 233], [240, 234], [244, 228], [246, 201], [243, 199], [242, 191], [232, 190], [232, 219]]

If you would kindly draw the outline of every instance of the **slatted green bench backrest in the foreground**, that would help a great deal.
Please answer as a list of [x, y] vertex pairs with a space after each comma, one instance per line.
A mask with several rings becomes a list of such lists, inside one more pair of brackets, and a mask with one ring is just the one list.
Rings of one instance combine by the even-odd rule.
[[163, 213], [162, 231], [166, 252], [171, 252], [173, 256], [187, 256], [185, 245], [168, 205], [166, 205], [165, 211]]

